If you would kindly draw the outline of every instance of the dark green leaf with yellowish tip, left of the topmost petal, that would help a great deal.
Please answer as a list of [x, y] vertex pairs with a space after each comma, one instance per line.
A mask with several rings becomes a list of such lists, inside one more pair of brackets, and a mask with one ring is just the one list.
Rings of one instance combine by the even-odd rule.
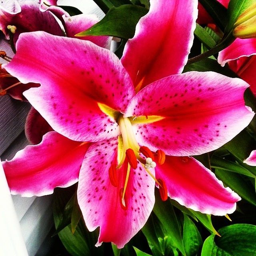
[[91, 28], [76, 34], [76, 36], [115, 36], [118, 38], [132, 38], [139, 19], [148, 10], [141, 6], [130, 4], [113, 7], [106, 16]]

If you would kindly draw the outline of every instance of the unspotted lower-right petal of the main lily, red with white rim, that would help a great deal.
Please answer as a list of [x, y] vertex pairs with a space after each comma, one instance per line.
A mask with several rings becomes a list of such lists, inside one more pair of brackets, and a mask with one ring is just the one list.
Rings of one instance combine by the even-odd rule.
[[192, 210], [222, 216], [234, 212], [236, 202], [241, 200], [192, 157], [167, 156], [165, 163], [155, 169], [156, 178], [166, 183], [168, 196]]

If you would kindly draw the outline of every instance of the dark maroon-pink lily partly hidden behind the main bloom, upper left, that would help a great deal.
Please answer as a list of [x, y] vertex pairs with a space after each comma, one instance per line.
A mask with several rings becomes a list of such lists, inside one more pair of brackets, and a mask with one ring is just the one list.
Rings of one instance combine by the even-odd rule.
[[[56, 2], [56, 1], [55, 1]], [[54, 3], [54, 1], [51, 1]], [[40, 4], [36, 1], [12, 2], [10, 6], [0, 6], [0, 30], [4, 33], [6, 39], [9, 38], [8, 25], [15, 26], [14, 42], [18, 39], [20, 33], [32, 31], [45, 31], [53, 35], [64, 36], [62, 28], [58, 24], [56, 18], [52, 15], [52, 10], [58, 11], [58, 16], [62, 20], [66, 36], [75, 37], [74, 35], [81, 30], [90, 28], [98, 18], [94, 14], [80, 14], [70, 17], [67, 12], [60, 7], [52, 6], [40, 11]], [[8, 7], [8, 8], [7, 8]], [[54, 14], [56, 14], [54, 12]], [[110, 48], [111, 37], [108, 36], [84, 36], [79, 38], [81, 40], [90, 40], [98, 46]], [[7, 56], [12, 57], [14, 54], [10, 49], [7, 40], [0, 39], [0, 50], [4, 50]], [[15, 99], [26, 100], [22, 93], [30, 87], [38, 86], [38, 84], [21, 84], [18, 79], [7, 74], [4, 69], [0, 67], [0, 95], [6, 92]], [[9, 89], [10, 88], [10, 89]]]

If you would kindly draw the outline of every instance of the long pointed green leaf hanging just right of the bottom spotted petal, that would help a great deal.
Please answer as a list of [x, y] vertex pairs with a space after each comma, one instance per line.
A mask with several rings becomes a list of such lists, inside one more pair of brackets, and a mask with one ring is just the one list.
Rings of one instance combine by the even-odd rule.
[[159, 193], [156, 192], [156, 203], [153, 211], [165, 228], [166, 235], [172, 239], [174, 247], [177, 247], [185, 255], [180, 225], [170, 200], [163, 202]]

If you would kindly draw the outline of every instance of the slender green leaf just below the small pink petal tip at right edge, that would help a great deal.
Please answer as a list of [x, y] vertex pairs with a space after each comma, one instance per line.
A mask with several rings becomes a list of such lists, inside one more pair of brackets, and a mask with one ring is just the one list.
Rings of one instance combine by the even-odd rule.
[[256, 178], [256, 176], [254, 174], [252, 174], [249, 170], [247, 170], [243, 166], [240, 166], [237, 163], [231, 162], [224, 158], [220, 158], [218, 156], [212, 156], [211, 166], [212, 166], [212, 168], [217, 168], [219, 170], [236, 172], [236, 173], [243, 174], [243, 175], [246, 175], [251, 178]]

